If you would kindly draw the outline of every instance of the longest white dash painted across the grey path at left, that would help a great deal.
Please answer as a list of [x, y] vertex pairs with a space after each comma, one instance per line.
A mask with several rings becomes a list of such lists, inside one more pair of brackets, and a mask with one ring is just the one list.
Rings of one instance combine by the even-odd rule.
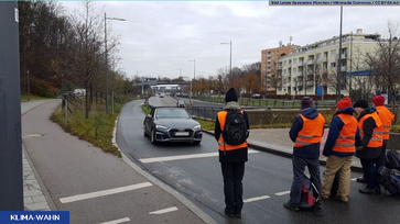
[[121, 187], [121, 188], [115, 188], [115, 189], [109, 189], [109, 190], [104, 190], [104, 191], [96, 191], [96, 192], [91, 192], [91, 193], [84, 193], [84, 194], [77, 194], [77, 195], [73, 195], [73, 197], [66, 197], [66, 198], [60, 199], [60, 201], [61, 201], [61, 203], [69, 203], [69, 202], [74, 202], [74, 201], [80, 201], [80, 200], [93, 199], [93, 198], [97, 198], [97, 197], [121, 193], [125, 191], [137, 190], [140, 188], [150, 187], [150, 186], [152, 186], [151, 182], [142, 182], [142, 183], [126, 186], [126, 187]]

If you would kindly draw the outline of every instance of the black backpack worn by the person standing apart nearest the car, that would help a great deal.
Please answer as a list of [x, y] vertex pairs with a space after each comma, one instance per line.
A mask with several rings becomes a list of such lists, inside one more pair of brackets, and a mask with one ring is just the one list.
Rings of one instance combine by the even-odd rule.
[[239, 110], [228, 110], [223, 131], [223, 138], [228, 145], [240, 145], [248, 137], [245, 115]]

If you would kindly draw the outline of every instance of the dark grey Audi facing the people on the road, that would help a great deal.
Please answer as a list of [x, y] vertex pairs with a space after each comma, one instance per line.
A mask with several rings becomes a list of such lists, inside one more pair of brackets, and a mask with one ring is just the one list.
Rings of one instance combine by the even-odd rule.
[[198, 145], [203, 133], [201, 124], [184, 108], [153, 108], [143, 121], [144, 136], [153, 145], [161, 142], [188, 142]]

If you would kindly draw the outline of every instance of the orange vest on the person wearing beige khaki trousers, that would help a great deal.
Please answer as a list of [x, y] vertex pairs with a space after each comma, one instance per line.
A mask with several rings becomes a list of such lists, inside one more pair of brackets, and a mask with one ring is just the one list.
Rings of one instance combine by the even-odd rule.
[[354, 153], [356, 149], [355, 143], [358, 128], [357, 119], [354, 115], [345, 113], [340, 113], [337, 116], [340, 117], [344, 125], [332, 149], [338, 153]]

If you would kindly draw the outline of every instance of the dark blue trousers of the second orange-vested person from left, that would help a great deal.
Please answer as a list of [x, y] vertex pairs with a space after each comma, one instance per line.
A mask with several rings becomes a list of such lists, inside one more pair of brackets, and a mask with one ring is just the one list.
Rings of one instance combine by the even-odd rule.
[[311, 181], [315, 184], [320, 194], [322, 192], [321, 177], [320, 177], [320, 160], [318, 158], [306, 159], [293, 156], [292, 165], [293, 165], [293, 182], [292, 182], [292, 188], [290, 189], [290, 200], [288, 203], [292, 206], [299, 208], [301, 201], [305, 167], [309, 168], [309, 172], [311, 175]]

